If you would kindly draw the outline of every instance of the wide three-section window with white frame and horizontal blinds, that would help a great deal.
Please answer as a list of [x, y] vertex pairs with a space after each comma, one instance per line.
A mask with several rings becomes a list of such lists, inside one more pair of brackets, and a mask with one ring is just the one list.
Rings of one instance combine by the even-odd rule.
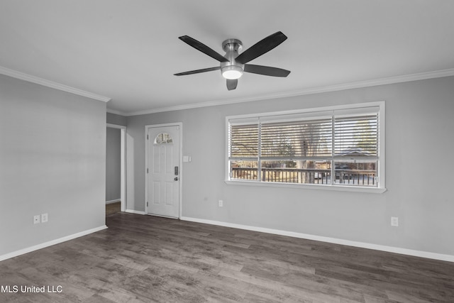
[[384, 102], [226, 122], [228, 182], [384, 189]]

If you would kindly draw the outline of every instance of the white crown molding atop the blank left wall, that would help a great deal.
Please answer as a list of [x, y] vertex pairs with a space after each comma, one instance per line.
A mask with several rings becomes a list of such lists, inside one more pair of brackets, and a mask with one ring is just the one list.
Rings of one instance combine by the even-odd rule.
[[77, 94], [82, 97], [87, 97], [89, 99], [94, 99], [98, 101], [108, 102], [111, 100], [109, 97], [104, 97], [99, 94], [93, 94], [91, 92], [86, 92], [82, 89], [76, 89], [74, 87], [67, 86], [65, 84], [60, 84], [50, 80], [46, 80], [40, 77], [35, 77], [32, 75], [25, 74], [23, 72], [18, 72], [17, 70], [10, 70], [9, 68], [0, 66], [0, 74], [13, 77], [16, 79], [21, 79], [27, 82], [43, 85], [44, 87], [50, 87], [52, 89], [58, 89], [63, 92], [69, 92], [71, 94]]

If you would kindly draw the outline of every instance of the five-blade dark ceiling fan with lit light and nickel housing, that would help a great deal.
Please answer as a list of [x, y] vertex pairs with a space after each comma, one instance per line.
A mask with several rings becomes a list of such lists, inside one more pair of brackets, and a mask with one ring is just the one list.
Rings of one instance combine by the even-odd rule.
[[189, 72], [179, 72], [178, 74], [175, 74], [175, 76], [193, 75], [200, 72], [221, 70], [222, 76], [227, 79], [227, 89], [232, 90], [236, 89], [238, 78], [243, 75], [243, 72], [251, 72], [253, 74], [273, 77], [287, 77], [290, 73], [289, 70], [283, 70], [282, 68], [247, 64], [249, 61], [269, 52], [277, 45], [284, 42], [287, 39], [287, 36], [280, 31], [260, 40], [258, 43], [255, 43], [255, 45], [240, 54], [238, 52], [243, 48], [243, 43], [240, 40], [225, 40], [222, 43], [222, 49], [226, 52], [226, 55], [217, 53], [215, 50], [212, 50], [203, 43], [189, 37], [189, 35], [182, 35], [178, 38], [184, 43], [191, 45], [196, 50], [200, 50], [202, 53], [218, 60], [221, 64], [218, 67], [190, 70]]

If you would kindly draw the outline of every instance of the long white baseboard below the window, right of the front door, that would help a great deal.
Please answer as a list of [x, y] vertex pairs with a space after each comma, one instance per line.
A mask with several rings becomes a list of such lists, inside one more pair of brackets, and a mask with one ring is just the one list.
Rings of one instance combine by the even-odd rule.
[[263, 228], [263, 227], [248, 226], [248, 225], [242, 225], [242, 224], [233, 224], [233, 223], [227, 223], [227, 222], [221, 222], [221, 221], [197, 219], [197, 218], [191, 218], [191, 217], [187, 217], [187, 216], [182, 216], [181, 220], [192, 221], [192, 222], [197, 222], [197, 223], [204, 223], [204, 224], [211, 224], [211, 225], [218, 225], [218, 226], [225, 226], [225, 227], [231, 227], [231, 228], [238, 228], [238, 229], [245, 229], [247, 231], [260, 231], [262, 233], [272, 233], [272, 234], [280, 235], [280, 236], [303, 238], [303, 239], [308, 239], [308, 240], [322, 241], [322, 242], [341, 244], [341, 245], [346, 245], [346, 246], [355, 246], [355, 247], [359, 247], [359, 248], [382, 250], [382, 251], [386, 251], [388, 253], [399, 253], [402, 255], [413, 255], [415, 257], [454, 262], [454, 255], [443, 255], [441, 253], [431, 253], [428, 251], [412, 250], [412, 249], [399, 248], [399, 247], [393, 247], [393, 246], [382, 246], [382, 245], [377, 245], [377, 244], [372, 244], [372, 243], [363, 243], [363, 242], [349, 241], [349, 240], [343, 240], [343, 239], [338, 239], [338, 238], [314, 236], [314, 235], [309, 235], [307, 233], [295, 233], [293, 231], [279, 231], [278, 229], [272, 229], [272, 228]]

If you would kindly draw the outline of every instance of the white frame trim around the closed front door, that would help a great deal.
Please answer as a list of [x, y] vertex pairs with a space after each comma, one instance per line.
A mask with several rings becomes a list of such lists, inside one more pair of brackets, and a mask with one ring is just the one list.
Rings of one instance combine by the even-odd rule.
[[[148, 214], [148, 129], [149, 128], [158, 128], [158, 127], [166, 127], [166, 126], [177, 126], [177, 130], [179, 132], [179, 150], [178, 150], [178, 167], [179, 167], [179, 175], [178, 175], [178, 219], [182, 217], [182, 184], [183, 184], [183, 166], [182, 166], [182, 155], [183, 155], [183, 123], [182, 122], [175, 122], [175, 123], [161, 123], [161, 124], [152, 124], [152, 125], [145, 125], [145, 214]], [[153, 140], [150, 138], [150, 140]]]

